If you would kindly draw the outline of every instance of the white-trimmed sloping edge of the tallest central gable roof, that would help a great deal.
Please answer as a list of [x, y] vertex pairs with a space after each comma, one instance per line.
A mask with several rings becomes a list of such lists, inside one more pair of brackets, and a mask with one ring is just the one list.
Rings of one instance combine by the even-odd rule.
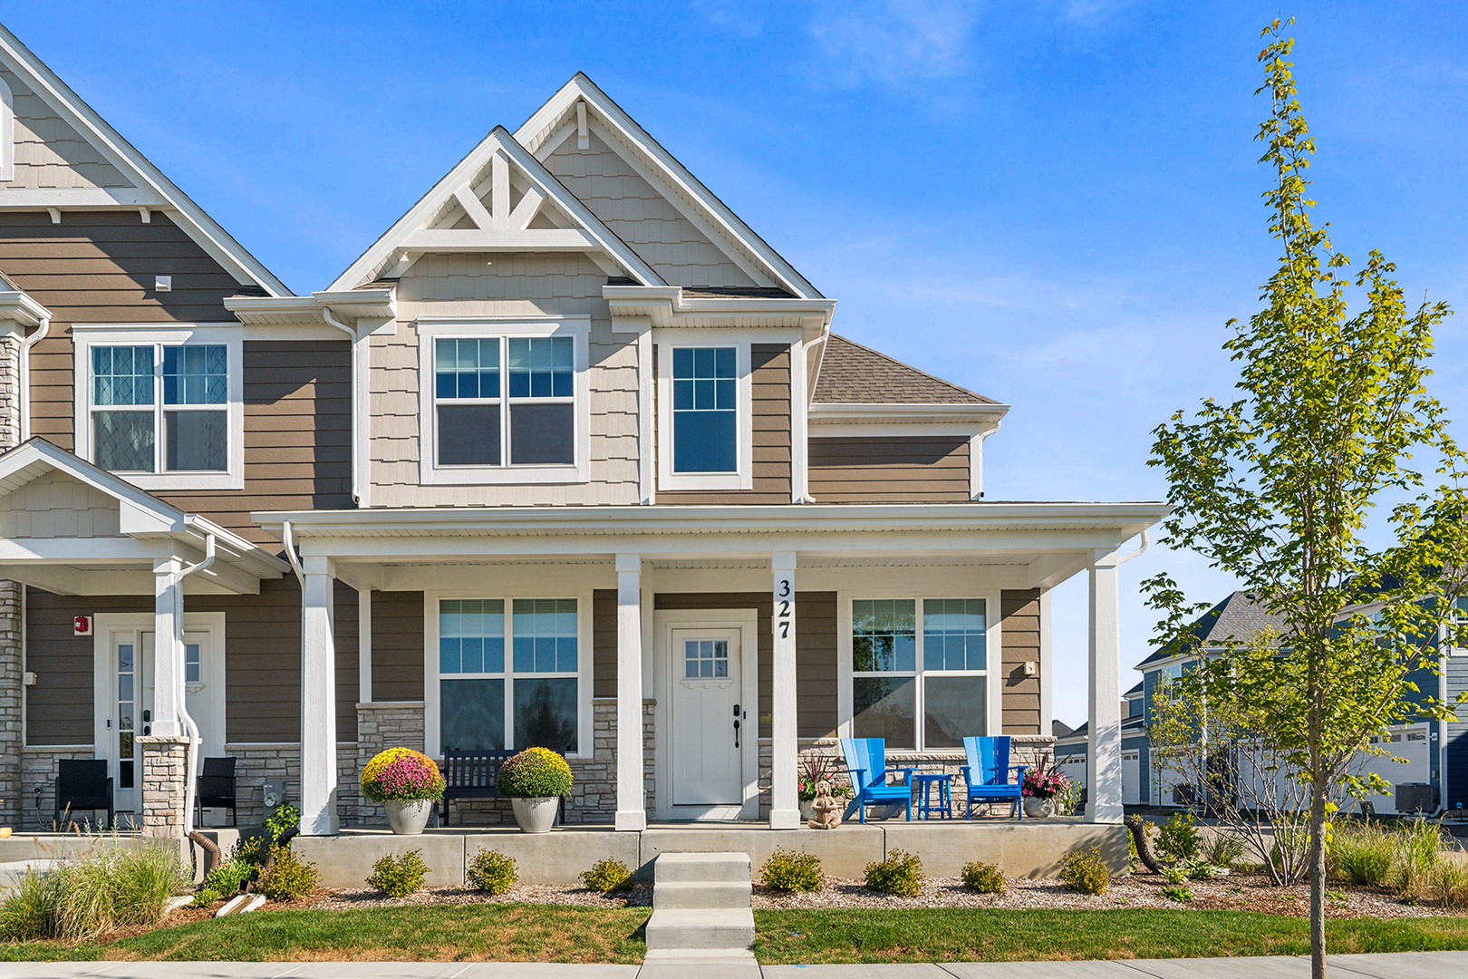
[[759, 282], [778, 286], [802, 299], [824, 298], [794, 266], [755, 233], [738, 214], [706, 188], [662, 144], [606, 95], [584, 72], [577, 72], [517, 131], [515, 139], [546, 159], [559, 139], [578, 128], [577, 103], [586, 103], [587, 126], [612, 137], [614, 151], [668, 191], [666, 200], [709, 236], [735, 264]]

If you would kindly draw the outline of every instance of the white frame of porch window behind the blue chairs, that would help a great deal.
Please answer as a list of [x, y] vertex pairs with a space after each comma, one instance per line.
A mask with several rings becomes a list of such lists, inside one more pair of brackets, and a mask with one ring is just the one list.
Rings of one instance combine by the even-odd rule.
[[[950, 599], [966, 599], [984, 602], [984, 669], [926, 669], [925, 668], [925, 650], [923, 650], [923, 603], [932, 600], [950, 600]], [[854, 656], [854, 603], [856, 602], [912, 602], [913, 603], [913, 628], [916, 631], [916, 668], [912, 671], [881, 671], [881, 672], [857, 672], [856, 671], [856, 656]], [[840, 671], [840, 683], [844, 687], [844, 716], [841, 718], [843, 737], [857, 737], [856, 725], [856, 680], [862, 677], [912, 677], [915, 684], [913, 691], [913, 749], [900, 749], [888, 746], [887, 753], [893, 754], [903, 751], [962, 751], [963, 746], [956, 747], [926, 747], [925, 734], [926, 724], [923, 722], [926, 710], [926, 684], [923, 683], [928, 677], [984, 677], [984, 731], [975, 731], [976, 735], [994, 735], [1003, 731], [1003, 706], [1001, 691], [998, 690], [998, 678], [1001, 675], [1000, 668], [995, 665], [994, 656], [995, 650], [1000, 650], [998, 644], [1000, 630], [998, 622], [994, 619], [992, 611], [998, 608], [998, 596], [992, 594], [938, 594], [932, 593], [928, 596], [915, 594], [853, 594], [850, 597], [843, 596], [840, 603], [840, 615], [837, 628], [843, 636], [843, 669]]]

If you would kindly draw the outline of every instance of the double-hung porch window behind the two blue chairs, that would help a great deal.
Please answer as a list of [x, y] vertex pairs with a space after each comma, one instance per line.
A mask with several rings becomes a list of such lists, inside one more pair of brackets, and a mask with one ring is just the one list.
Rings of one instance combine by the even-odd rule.
[[851, 735], [951, 749], [988, 734], [985, 599], [851, 602]]

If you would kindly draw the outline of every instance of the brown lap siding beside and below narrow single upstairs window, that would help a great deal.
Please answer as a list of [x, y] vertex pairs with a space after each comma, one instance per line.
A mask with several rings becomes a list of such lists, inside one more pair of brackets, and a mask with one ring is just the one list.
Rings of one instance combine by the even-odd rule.
[[[718, 506], [788, 503], [791, 501], [790, 348], [782, 343], [755, 343], [750, 349], [750, 373], [753, 489], [716, 492], [658, 490], [659, 503]], [[656, 418], [656, 407], [653, 417]]]

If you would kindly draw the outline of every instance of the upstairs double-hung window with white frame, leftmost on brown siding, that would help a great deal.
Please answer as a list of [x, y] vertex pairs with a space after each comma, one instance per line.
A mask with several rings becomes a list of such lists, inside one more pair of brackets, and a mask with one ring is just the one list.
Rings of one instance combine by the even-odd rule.
[[78, 454], [145, 489], [244, 486], [236, 338], [85, 326], [73, 333]]

